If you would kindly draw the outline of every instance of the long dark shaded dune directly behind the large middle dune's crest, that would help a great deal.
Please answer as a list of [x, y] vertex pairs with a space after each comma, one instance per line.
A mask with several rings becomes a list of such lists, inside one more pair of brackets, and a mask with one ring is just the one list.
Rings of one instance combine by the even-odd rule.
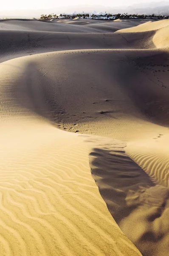
[[[1, 30], [0, 35], [0, 62], [24, 55], [71, 49], [156, 48], [153, 43], [154, 32], [144, 32], [144, 34], [139, 32], [131, 35], [130, 33], [63, 33], [10, 30], [9, 33], [8, 30], [4, 29]], [[168, 44], [167, 39], [165, 44]]]

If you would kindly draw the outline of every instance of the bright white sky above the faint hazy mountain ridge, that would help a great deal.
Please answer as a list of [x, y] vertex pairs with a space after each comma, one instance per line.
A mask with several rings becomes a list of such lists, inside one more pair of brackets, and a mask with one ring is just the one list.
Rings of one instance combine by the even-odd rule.
[[[140, 2], [159, 2], [159, 0], [142, 0]], [[166, 0], [167, 2], [169, 0]], [[62, 7], [62, 6], [79, 6], [79, 5], [104, 5], [109, 7], [115, 6], [129, 6], [132, 4], [137, 4], [138, 0], [85, 0], [83, 2], [79, 0], [3, 0], [0, 3], [1, 11], [11, 11], [11, 10], [21, 10], [21, 9], [49, 9], [50, 7]], [[97, 8], [96, 8], [97, 9]]]

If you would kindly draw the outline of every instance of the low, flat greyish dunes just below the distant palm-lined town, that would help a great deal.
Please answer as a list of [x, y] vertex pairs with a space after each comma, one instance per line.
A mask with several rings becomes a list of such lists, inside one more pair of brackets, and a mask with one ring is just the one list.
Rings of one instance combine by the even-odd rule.
[[[82, 24], [87, 26], [82, 26]], [[141, 23], [141, 21], [140, 21]], [[69, 24], [70, 26], [67, 26]], [[81, 24], [81, 26], [78, 26]], [[89, 24], [89, 25], [88, 25]], [[137, 23], [138, 24], [138, 23]], [[96, 26], [95, 26], [96, 25]], [[95, 32], [115, 32], [118, 29], [135, 26], [136, 23], [124, 21], [104, 21], [104, 20], [34, 20], [34, 19], [8, 19], [0, 21], [0, 30], [23, 30], [23, 31], [48, 31], [48, 32], [78, 32], [78, 33], [95, 33]]]

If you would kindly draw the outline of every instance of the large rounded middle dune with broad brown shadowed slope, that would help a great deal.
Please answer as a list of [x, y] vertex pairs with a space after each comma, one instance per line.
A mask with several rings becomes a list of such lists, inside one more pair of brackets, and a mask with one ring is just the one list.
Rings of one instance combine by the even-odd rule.
[[[9, 120], [27, 119], [31, 110], [34, 118], [40, 115], [66, 131], [78, 130], [102, 136], [107, 127], [107, 137], [126, 141], [137, 138], [137, 132], [132, 129], [141, 129], [144, 138], [149, 138], [149, 134], [156, 136], [161, 131], [166, 133], [167, 128], [160, 124], [168, 125], [167, 111], [164, 110], [168, 108], [169, 91], [163, 86], [167, 80], [168, 67], [161, 66], [159, 62], [161, 59], [163, 64], [165, 61], [167, 63], [166, 56], [167, 52], [163, 51], [74, 50], [3, 62], [0, 64], [1, 92], [3, 95], [10, 93], [11, 98], [10, 101], [2, 99], [1, 119], [5, 122], [9, 117]], [[147, 64], [146, 69], [143, 61]], [[121, 67], [123, 76], [120, 77]], [[162, 72], [156, 75], [155, 71], [159, 68], [165, 71], [166, 76]], [[85, 70], [85, 73], [81, 70]], [[92, 76], [94, 78], [91, 81]], [[141, 86], [136, 88], [137, 79], [141, 81]], [[149, 87], [147, 79], [151, 80]], [[127, 82], [127, 90], [124, 81]], [[104, 88], [105, 83], [107, 90]], [[82, 96], [86, 101], [79, 102]], [[154, 108], [157, 108], [157, 113], [153, 112]], [[153, 119], [150, 121], [151, 115]], [[142, 130], [143, 127], [146, 132]]]

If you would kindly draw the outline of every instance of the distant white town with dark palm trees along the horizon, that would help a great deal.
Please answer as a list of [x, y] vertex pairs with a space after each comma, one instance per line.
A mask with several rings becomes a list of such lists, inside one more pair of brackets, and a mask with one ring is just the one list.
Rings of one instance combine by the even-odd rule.
[[44, 15], [42, 14], [40, 20], [51, 20], [53, 18], [56, 19], [74, 19], [74, 18], [81, 18], [81, 19], [94, 19], [94, 20], [116, 20], [116, 19], [169, 19], [169, 15], [138, 15], [138, 14], [128, 14], [128, 13], [118, 13], [112, 14], [107, 12], [73, 12], [73, 13], [60, 13], [60, 14], [49, 14]]

